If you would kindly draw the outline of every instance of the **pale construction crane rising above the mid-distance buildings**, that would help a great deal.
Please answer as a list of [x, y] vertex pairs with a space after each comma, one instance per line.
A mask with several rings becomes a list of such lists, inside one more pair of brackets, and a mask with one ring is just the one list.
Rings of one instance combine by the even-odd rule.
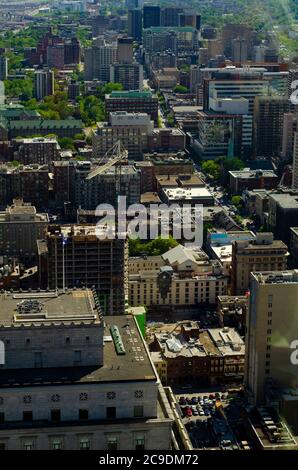
[[[115, 165], [115, 183], [116, 183], [116, 192], [120, 193], [120, 178], [121, 178], [121, 162], [127, 160], [128, 151], [123, 146], [121, 140], [118, 140], [113, 147], [111, 147], [104, 157], [102, 158], [103, 163], [95, 170], [91, 171], [87, 176], [86, 180], [91, 180], [98, 175], [101, 175], [109, 168], [112, 168]], [[119, 170], [119, 171], [118, 171]]]

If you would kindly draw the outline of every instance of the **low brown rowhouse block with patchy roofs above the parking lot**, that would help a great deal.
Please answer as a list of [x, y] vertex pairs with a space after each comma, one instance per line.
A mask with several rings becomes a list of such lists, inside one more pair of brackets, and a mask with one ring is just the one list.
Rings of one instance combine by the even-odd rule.
[[245, 346], [234, 328], [200, 329], [198, 322], [154, 333], [151, 357], [163, 384], [199, 386], [241, 382]]

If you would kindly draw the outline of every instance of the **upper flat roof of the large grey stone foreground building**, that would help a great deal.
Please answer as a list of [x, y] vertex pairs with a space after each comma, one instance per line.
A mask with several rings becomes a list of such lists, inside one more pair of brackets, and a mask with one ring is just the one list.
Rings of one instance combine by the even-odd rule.
[[48, 326], [100, 322], [91, 289], [0, 294], [1, 326]]

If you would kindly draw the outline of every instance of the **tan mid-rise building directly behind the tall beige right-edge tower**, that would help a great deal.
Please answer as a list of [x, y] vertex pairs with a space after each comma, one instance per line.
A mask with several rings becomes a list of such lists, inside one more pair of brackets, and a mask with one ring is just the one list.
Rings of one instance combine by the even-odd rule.
[[287, 255], [287, 245], [274, 240], [273, 233], [257, 233], [254, 240], [235, 241], [232, 247], [233, 295], [243, 295], [248, 291], [253, 271], [287, 269]]

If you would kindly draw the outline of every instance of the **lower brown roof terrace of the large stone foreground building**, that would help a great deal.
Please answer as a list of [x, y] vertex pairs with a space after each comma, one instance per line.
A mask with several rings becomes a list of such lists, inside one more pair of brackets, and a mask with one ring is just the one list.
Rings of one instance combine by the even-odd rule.
[[[124, 355], [118, 355], [110, 327], [120, 332]], [[104, 330], [104, 365], [2, 370], [0, 387], [32, 387], [82, 383], [157, 381], [150, 356], [132, 315], [106, 317]]]

